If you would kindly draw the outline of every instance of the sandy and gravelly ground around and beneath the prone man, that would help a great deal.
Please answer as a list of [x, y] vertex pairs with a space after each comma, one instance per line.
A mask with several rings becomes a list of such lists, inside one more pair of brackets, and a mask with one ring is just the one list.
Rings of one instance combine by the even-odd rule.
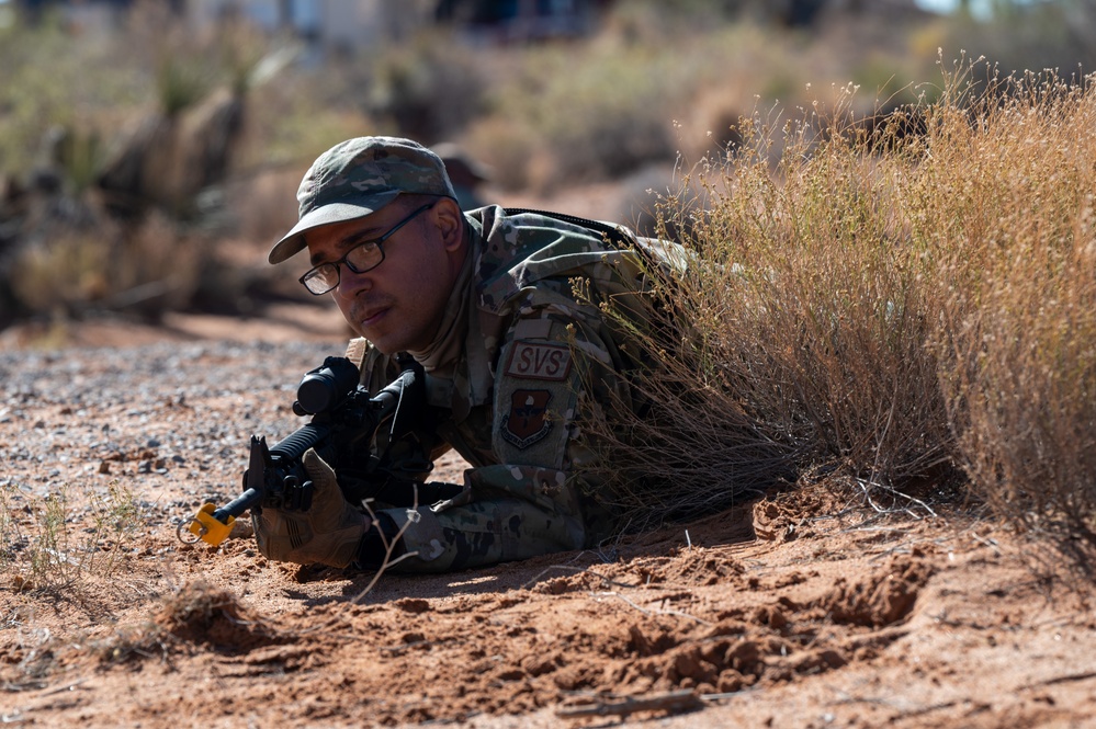
[[0, 722], [1096, 727], [1093, 585], [942, 505], [822, 482], [375, 584], [269, 562], [246, 527], [183, 544], [341, 351], [330, 309], [268, 315], [0, 332]]

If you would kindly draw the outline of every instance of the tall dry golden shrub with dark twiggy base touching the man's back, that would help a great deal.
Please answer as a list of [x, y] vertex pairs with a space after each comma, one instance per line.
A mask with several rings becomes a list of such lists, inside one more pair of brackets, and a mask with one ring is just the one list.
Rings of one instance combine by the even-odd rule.
[[636, 509], [725, 506], [794, 470], [889, 492], [953, 476], [926, 346], [939, 319], [935, 263], [897, 203], [926, 150], [897, 134], [905, 123], [858, 134], [852, 94], [782, 127], [744, 119], [743, 146], [687, 181], [702, 205], [663, 210], [691, 231], [697, 257], [659, 287], [679, 339], [645, 343], [659, 366], [635, 385], [656, 403], [654, 425], [609, 438], [609, 462], [628, 464], [617, 489]]

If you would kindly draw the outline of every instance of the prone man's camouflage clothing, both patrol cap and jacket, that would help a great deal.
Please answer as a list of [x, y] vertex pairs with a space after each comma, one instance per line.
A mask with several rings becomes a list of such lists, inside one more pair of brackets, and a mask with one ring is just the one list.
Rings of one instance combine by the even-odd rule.
[[[297, 190], [297, 224], [274, 243], [268, 261], [280, 263], [304, 250], [309, 230], [369, 216], [403, 194], [457, 197], [442, 159], [418, 143], [393, 137], [340, 143], [305, 174]], [[637, 348], [629, 349], [629, 330], [649, 322], [649, 301], [642, 293], [648, 266], [678, 267], [683, 252], [609, 224], [566, 216], [508, 214], [488, 206], [464, 218], [468, 252], [444, 320], [427, 351], [409, 353], [422, 364], [429, 402], [441, 414], [411, 437], [375, 443], [372, 449], [397, 459], [402, 449], [409, 451], [403, 462], [421, 464], [454, 448], [472, 468], [463, 483], [428, 488], [421, 483], [428, 472], [404, 467], [399, 476], [411, 477], [410, 485], [418, 487], [400, 479], [378, 486], [389, 508], [380, 496], [371, 506], [378, 521], [376, 528], [363, 529], [357, 560], [363, 566], [383, 559], [382, 532], [391, 537], [405, 525], [399, 550], [414, 556], [398, 567], [420, 571], [579, 549], [611, 529], [592, 498], [597, 476], [587, 468], [597, 444], [584, 436], [579, 423], [584, 413], [610, 401], [641, 408], [628, 376], [645, 363], [633, 360]], [[602, 316], [599, 306], [608, 297], [634, 312], [633, 321], [621, 326]], [[371, 392], [395, 378], [393, 358], [370, 350], [364, 340], [352, 342], [351, 350]], [[348, 467], [360, 455], [344, 454]], [[415, 512], [404, 503], [410, 503], [408, 490], [421, 494]], [[270, 524], [257, 526], [257, 535], [267, 529], [259, 540], [263, 554], [314, 558], [315, 550], [294, 536], [305, 532], [326, 547], [332, 539], [344, 543], [343, 532], [328, 524], [342, 523], [344, 504], [273, 514]], [[347, 559], [340, 551], [328, 562], [343, 566]]]

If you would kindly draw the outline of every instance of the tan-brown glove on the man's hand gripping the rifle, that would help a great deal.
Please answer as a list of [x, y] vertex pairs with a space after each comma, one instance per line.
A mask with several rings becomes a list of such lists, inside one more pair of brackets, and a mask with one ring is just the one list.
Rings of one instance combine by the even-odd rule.
[[315, 448], [308, 448], [301, 463], [313, 482], [312, 505], [305, 511], [264, 508], [260, 514], [252, 512], [259, 551], [275, 561], [347, 567], [370, 520], [342, 497], [335, 470]]

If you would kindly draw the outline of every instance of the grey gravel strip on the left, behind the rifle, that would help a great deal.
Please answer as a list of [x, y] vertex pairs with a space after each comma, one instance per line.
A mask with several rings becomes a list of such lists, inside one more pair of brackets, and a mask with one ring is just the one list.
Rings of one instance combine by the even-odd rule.
[[4, 500], [121, 483], [165, 519], [239, 490], [252, 434], [276, 443], [302, 375], [341, 343], [206, 341], [0, 352]]

